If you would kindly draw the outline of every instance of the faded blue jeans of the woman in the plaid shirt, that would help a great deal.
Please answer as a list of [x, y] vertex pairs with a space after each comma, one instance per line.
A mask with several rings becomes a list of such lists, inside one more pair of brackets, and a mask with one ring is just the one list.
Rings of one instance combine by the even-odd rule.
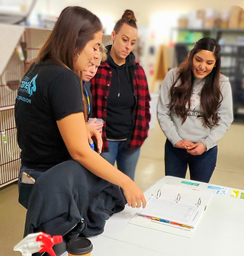
[[140, 155], [140, 148], [131, 150], [125, 149], [126, 141], [109, 140], [109, 152], [102, 153], [101, 156], [110, 164], [114, 165], [117, 161], [118, 170], [129, 176], [132, 180], [135, 178], [135, 167]]

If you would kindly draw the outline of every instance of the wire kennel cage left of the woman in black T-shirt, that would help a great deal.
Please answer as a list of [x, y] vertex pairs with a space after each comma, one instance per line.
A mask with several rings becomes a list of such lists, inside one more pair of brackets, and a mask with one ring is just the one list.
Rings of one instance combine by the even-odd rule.
[[[26, 64], [37, 57], [50, 33], [49, 29], [25, 28], [0, 76], [0, 187], [18, 179], [20, 148], [16, 138], [15, 98]], [[24, 60], [20, 58], [20, 50], [17, 50], [19, 47], [23, 51]]]

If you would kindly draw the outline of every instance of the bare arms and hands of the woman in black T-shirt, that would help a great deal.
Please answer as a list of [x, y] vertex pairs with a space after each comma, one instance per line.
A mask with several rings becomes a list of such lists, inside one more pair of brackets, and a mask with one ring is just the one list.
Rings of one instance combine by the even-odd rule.
[[60, 134], [65, 142], [70, 156], [90, 170], [94, 175], [109, 181], [124, 190], [129, 206], [146, 206], [146, 200], [142, 190], [132, 181], [131, 178], [119, 171], [107, 160], [96, 154], [87, 143], [95, 136], [98, 140], [98, 148], [102, 149], [102, 138], [98, 130], [86, 126], [84, 113], [74, 113], [57, 121]]

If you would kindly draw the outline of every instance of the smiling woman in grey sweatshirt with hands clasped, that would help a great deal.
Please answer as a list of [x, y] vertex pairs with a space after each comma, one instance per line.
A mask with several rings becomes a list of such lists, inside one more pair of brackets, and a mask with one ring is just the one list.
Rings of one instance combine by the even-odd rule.
[[217, 144], [233, 121], [229, 78], [220, 73], [220, 46], [195, 43], [186, 61], [163, 81], [157, 118], [167, 141], [165, 175], [208, 183], [217, 162]]

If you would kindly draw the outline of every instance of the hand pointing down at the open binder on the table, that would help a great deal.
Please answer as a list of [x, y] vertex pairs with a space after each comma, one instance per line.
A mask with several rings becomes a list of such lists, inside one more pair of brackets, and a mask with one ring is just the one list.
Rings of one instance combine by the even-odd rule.
[[126, 184], [123, 187], [121, 186], [121, 189], [123, 189], [128, 206], [131, 206], [132, 208], [140, 208], [141, 206], [143, 208], [146, 207], [144, 194], [132, 179], [129, 178]]

